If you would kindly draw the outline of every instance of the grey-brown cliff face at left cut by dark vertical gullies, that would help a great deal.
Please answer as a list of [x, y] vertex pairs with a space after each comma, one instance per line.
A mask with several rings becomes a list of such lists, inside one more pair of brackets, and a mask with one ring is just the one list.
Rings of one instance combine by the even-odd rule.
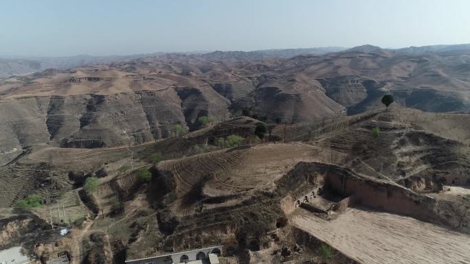
[[112, 147], [171, 136], [176, 123], [228, 117], [227, 99], [214, 91], [183, 89], [112, 95], [21, 97], [0, 101], [0, 164], [25, 147]]

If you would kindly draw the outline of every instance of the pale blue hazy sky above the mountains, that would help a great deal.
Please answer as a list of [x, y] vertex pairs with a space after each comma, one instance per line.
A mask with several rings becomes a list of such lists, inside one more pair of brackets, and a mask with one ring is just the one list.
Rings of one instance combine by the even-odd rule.
[[469, 0], [3, 0], [1, 56], [470, 43]]

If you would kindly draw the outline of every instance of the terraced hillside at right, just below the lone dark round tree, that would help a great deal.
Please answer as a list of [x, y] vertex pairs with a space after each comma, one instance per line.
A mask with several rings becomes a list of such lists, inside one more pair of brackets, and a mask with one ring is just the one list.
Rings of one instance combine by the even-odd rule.
[[[314, 144], [359, 157], [375, 171], [415, 191], [436, 191], [439, 183], [469, 183], [470, 138], [459, 131], [467, 127], [466, 118], [397, 109], [320, 137]], [[449, 123], [455, 124], [455, 133], [446, 129]], [[381, 134], [374, 137], [373, 128], [379, 128]]]

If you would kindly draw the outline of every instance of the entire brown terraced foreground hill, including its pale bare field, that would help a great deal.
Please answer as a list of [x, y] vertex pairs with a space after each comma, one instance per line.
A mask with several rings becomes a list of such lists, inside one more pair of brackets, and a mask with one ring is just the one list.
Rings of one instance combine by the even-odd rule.
[[[302, 263], [320, 261], [318, 248], [328, 243], [337, 250], [333, 262], [374, 263], [388, 253], [376, 256], [380, 250], [369, 248], [400, 251], [412, 237], [421, 237], [416, 248], [427, 252], [428, 260], [448, 261], [452, 254], [465, 259], [465, 245], [453, 247], [450, 241], [468, 239], [467, 138], [450, 138], [453, 134], [443, 130], [451, 123], [453, 131], [464, 131], [466, 123], [459, 121], [465, 118], [439, 114], [436, 119], [394, 108], [276, 124], [273, 141], [262, 143], [254, 139], [260, 121], [239, 117], [139, 145], [35, 145], [1, 167], [1, 180], [14, 188], [0, 198], [11, 204], [41, 193], [47, 203], [34, 213], [46, 224], [56, 203], [63, 204], [72, 221], [69, 237], [54, 238], [60, 243], [49, 251], [31, 250], [69, 252], [73, 263], [87, 259], [82, 252], [93, 252], [87, 248], [93, 234], [104, 237], [103, 249], [115, 261], [222, 243], [241, 263], [285, 261], [289, 258], [276, 253], [285, 248]], [[381, 133], [374, 137], [375, 127]], [[245, 138], [240, 146], [216, 144], [231, 134]], [[148, 157], [157, 152], [163, 160], [154, 165]], [[150, 171], [150, 179], [143, 180], [139, 169]], [[98, 177], [96, 192], [82, 190], [89, 176]], [[379, 226], [377, 233], [389, 239], [374, 241], [364, 226]], [[396, 235], [393, 226], [407, 235]], [[332, 231], [325, 232], [328, 228]], [[346, 237], [338, 239], [335, 232], [342, 228]], [[443, 228], [455, 232], [432, 243]], [[410, 250], [399, 254], [401, 261], [424, 263]]]

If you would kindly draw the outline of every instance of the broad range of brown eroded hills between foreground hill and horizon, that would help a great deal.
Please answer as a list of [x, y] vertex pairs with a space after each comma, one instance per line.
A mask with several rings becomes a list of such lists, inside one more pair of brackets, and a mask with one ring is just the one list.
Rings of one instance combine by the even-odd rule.
[[385, 93], [401, 106], [468, 111], [469, 60], [467, 50], [374, 46], [292, 58], [217, 51], [7, 77], [0, 163], [38, 143], [93, 148], [167, 138], [176, 123], [195, 130], [198, 117], [220, 121], [243, 109], [288, 123], [341, 117], [381, 107]]

